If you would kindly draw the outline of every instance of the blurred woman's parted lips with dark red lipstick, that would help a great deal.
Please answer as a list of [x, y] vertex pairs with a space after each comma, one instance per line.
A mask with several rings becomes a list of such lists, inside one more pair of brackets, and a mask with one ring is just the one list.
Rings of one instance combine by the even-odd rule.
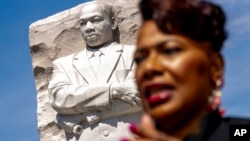
[[167, 84], [148, 85], [145, 90], [145, 97], [150, 107], [169, 101], [174, 93], [174, 87]]

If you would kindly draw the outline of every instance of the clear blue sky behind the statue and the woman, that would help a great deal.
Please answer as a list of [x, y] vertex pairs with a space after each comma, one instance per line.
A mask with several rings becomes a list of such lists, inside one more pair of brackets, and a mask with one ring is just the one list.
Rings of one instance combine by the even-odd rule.
[[[221, 4], [228, 17], [222, 107], [226, 116], [250, 117], [250, 1], [213, 1]], [[29, 25], [82, 2], [85, 0], [0, 2], [0, 140], [39, 141]]]

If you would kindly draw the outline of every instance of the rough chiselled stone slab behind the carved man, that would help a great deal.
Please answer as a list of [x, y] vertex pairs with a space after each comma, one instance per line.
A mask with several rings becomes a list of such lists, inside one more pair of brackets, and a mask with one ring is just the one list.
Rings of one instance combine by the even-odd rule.
[[[137, 0], [99, 0], [114, 5], [118, 21], [117, 41], [134, 45], [140, 15]], [[29, 27], [30, 52], [37, 89], [37, 118], [41, 141], [63, 141], [65, 133], [55, 124], [56, 112], [48, 99], [48, 82], [52, 74], [52, 61], [85, 47], [78, 24], [82, 4], [48, 18], [36, 21]]]

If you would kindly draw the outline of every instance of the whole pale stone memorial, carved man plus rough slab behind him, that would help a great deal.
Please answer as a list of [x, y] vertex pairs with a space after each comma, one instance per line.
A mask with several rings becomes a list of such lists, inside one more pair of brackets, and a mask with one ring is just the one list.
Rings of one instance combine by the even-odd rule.
[[[129, 22], [138, 14], [133, 6]], [[107, 1], [91, 1], [65, 12], [74, 17], [60, 14], [66, 19], [64, 22], [52, 16], [44, 20], [47, 23], [38, 21], [30, 26], [41, 140], [119, 141], [132, 136], [128, 125], [139, 122], [142, 107], [134, 80], [135, 48], [125, 45], [128, 41], [133, 44], [135, 35], [130, 35], [130, 40], [124, 33], [136, 34], [138, 24], [125, 22], [121, 16], [117, 19], [113, 12], [113, 5]], [[45, 24], [53, 25], [55, 21], [58, 26], [43, 31]], [[118, 28], [122, 22], [128, 31]], [[69, 26], [72, 23], [76, 28]], [[62, 25], [69, 27], [52, 41], [52, 31], [59, 32]], [[59, 46], [65, 46], [65, 51]], [[44, 60], [51, 61], [51, 65]]]

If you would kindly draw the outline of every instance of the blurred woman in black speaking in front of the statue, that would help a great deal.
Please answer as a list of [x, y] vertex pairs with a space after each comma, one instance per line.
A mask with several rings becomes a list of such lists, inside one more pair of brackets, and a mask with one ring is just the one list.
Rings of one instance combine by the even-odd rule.
[[223, 10], [200, 0], [142, 0], [140, 10], [134, 58], [147, 114], [130, 127], [137, 141], [229, 141], [230, 124], [250, 124], [222, 118], [213, 103], [223, 85]]

